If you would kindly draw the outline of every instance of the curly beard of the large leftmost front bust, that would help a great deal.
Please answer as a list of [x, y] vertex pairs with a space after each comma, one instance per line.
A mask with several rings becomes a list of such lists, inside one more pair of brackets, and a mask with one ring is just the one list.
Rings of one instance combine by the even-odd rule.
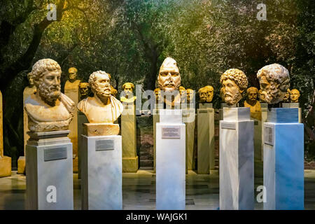
[[38, 92], [41, 99], [51, 106], [55, 105], [61, 94], [60, 85], [47, 86], [42, 81], [39, 82]]

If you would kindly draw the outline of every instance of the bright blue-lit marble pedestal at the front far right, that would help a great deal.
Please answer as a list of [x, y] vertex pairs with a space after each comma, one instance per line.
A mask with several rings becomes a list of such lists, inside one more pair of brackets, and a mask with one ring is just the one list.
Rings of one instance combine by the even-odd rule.
[[273, 108], [264, 124], [264, 209], [304, 209], [304, 125], [298, 113]]

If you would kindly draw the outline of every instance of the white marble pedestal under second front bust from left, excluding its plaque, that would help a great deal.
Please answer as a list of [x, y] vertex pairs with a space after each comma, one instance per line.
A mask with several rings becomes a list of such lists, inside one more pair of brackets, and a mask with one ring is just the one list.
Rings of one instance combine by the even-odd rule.
[[[86, 137], [81, 154], [82, 209], [123, 209], [122, 137]], [[96, 151], [97, 141], [113, 141], [113, 150]]]

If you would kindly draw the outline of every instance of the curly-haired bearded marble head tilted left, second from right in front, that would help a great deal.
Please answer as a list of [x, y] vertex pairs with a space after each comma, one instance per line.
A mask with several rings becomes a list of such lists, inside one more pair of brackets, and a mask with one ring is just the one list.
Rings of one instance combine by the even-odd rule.
[[237, 104], [243, 98], [242, 93], [248, 85], [245, 73], [239, 69], [228, 69], [225, 71], [221, 76], [220, 82], [224, 91], [225, 103], [230, 106]]

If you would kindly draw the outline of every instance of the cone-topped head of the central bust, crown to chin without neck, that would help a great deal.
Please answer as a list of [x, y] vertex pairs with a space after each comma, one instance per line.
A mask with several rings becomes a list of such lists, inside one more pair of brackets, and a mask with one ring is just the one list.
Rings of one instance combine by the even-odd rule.
[[158, 85], [164, 92], [179, 90], [181, 86], [181, 74], [179, 67], [172, 57], [167, 57], [162, 63], [158, 75]]

